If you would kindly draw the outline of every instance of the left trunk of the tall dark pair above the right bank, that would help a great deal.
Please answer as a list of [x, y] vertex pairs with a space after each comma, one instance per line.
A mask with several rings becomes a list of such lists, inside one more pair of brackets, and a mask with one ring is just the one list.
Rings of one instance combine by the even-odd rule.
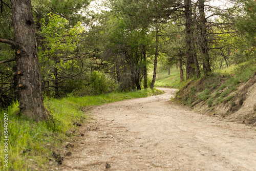
[[195, 75], [195, 65], [194, 57], [193, 57], [193, 19], [192, 19], [192, 11], [191, 11], [191, 0], [184, 0], [185, 5], [185, 18], [186, 18], [186, 79], [193, 77]]

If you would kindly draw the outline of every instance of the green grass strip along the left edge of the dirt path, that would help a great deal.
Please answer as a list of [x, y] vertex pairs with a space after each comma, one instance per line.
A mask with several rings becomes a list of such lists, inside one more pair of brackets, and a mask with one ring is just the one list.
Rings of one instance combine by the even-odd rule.
[[[75, 131], [73, 123], [90, 119], [82, 111], [82, 107], [100, 105], [131, 98], [141, 98], [160, 94], [154, 89], [146, 89], [130, 93], [111, 93], [108, 95], [66, 97], [62, 99], [45, 99], [45, 106], [55, 119], [54, 124], [35, 122], [24, 117], [18, 117], [18, 103], [14, 103], [0, 115], [0, 170], [56, 170], [57, 164], [49, 166], [49, 160], [54, 160], [55, 152], [63, 142], [70, 138], [66, 131]], [[8, 114], [8, 153], [5, 149], [4, 113]], [[4, 155], [8, 154], [8, 167], [4, 165]]]

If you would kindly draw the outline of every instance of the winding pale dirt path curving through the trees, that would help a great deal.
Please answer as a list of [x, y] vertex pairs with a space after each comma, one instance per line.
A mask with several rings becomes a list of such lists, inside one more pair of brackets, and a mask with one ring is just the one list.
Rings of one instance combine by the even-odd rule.
[[256, 131], [170, 103], [175, 89], [161, 90], [93, 109], [59, 169], [256, 170]]

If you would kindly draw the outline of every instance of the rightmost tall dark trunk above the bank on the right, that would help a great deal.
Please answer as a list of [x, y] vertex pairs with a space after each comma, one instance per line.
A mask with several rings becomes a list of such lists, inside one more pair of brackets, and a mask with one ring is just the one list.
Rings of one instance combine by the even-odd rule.
[[204, 1], [199, 0], [199, 15], [200, 15], [200, 26], [201, 26], [201, 51], [203, 55], [203, 69], [204, 73], [211, 72], [209, 63], [209, 49], [207, 41], [207, 31], [206, 31], [206, 18], [204, 13]]

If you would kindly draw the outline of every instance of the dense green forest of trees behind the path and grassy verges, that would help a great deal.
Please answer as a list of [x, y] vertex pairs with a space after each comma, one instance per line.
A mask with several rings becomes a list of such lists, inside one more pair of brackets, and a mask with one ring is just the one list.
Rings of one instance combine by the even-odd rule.
[[[214, 5], [216, 3], [216, 5]], [[180, 79], [255, 64], [256, 2], [32, 0], [44, 97], [153, 88], [157, 63]], [[1, 1], [0, 38], [15, 41], [12, 4]], [[29, 36], [29, 35], [28, 35]], [[18, 98], [15, 48], [0, 44], [0, 106]]]

